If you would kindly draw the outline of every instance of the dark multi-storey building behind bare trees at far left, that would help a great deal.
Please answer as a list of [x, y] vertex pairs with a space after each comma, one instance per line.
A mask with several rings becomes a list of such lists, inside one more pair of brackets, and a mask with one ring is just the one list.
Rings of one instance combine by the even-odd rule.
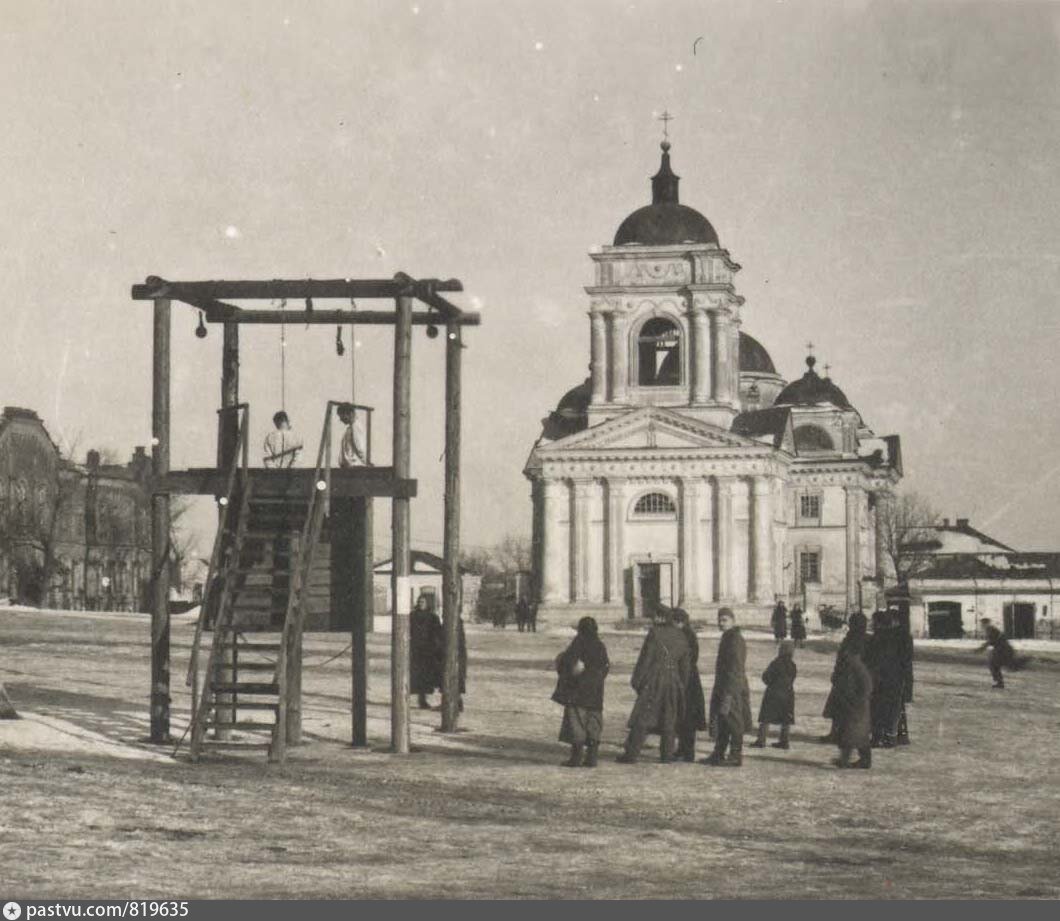
[[40, 418], [0, 415], [0, 596], [59, 608], [145, 610], [151, 461], [61, 457]]

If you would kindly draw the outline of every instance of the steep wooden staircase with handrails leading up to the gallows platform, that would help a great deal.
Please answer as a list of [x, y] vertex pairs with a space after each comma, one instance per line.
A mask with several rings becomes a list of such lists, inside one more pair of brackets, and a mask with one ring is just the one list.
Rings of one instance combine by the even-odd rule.
[[[254, 495], [246, 467], [246, 418], [242, 470], [233, 463], [220, 503], [192, 647], [192, 760], [211, 749], [263, 748], [270, 761], [282, 761], [288, 742], [301, 732], [302, 628], [328, 514], [331, 404], [312, 494], [305, 496]], [[207, 627], [213, 638], [199, 695], [199, 647]]]

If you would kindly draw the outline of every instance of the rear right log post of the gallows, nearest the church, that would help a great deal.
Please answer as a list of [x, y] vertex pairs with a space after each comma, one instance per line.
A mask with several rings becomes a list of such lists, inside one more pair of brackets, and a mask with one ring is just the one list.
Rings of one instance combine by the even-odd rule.
[[445, 567], [442, 569], [442, 623], [445, 673], [442, 684], [442, 731], [455, 732], [460, 719], [460, 325], [445, 330]]

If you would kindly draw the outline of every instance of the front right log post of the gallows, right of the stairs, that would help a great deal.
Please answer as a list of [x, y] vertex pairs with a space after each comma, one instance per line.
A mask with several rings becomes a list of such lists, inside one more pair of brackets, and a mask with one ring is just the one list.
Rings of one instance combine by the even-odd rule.
[[[412, 299], [396, 298], [394, 322], [393, 473], [408, 479], [411, 467]], [[409, 750], [408, 644], [409, 500], [391, 500], [390, 594], [393, 612], [390, 632], [390, 744], [395, 754]]]

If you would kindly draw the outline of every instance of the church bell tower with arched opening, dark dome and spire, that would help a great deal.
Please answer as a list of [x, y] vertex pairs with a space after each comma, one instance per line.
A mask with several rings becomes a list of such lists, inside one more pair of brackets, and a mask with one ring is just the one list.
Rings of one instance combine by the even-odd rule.
[[664, 140], [652, 202], [589, 253], [589, 424], [665, 406], [728, 429], [740, 411], [740, 270], [710, 222], [682, 205]]

